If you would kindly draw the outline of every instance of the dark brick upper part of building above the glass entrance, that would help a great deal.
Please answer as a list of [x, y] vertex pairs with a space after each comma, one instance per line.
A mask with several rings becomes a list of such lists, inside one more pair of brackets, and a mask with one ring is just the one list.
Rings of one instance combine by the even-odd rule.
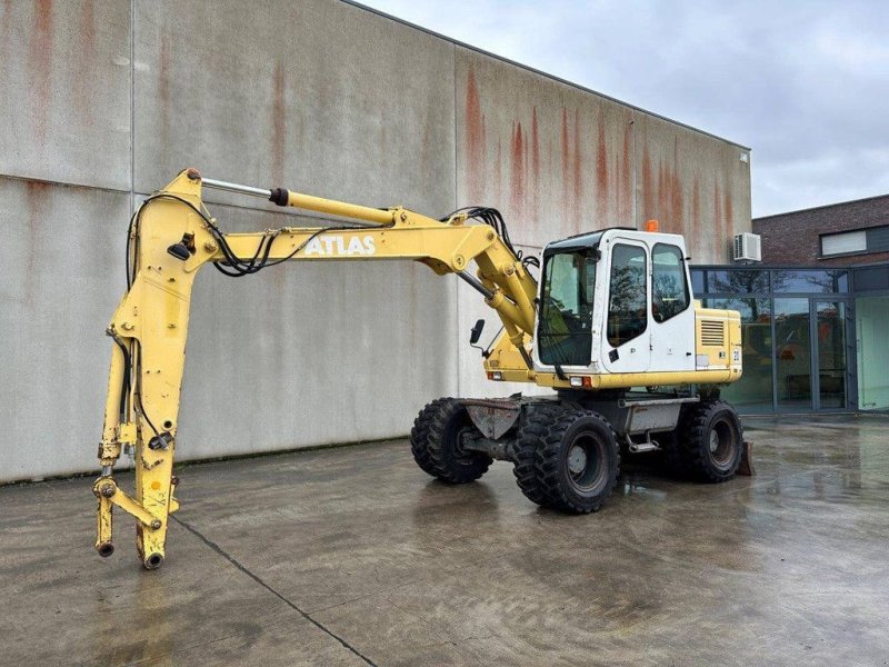
[[889, 260], [889, 195], [753, 219], [767, 265], [848, 266]]

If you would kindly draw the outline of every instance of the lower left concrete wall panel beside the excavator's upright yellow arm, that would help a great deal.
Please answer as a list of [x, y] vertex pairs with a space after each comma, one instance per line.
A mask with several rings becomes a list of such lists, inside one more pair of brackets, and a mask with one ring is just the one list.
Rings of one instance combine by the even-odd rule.
[[0, 178], [0, 482], [96, 467], [129, 199]]

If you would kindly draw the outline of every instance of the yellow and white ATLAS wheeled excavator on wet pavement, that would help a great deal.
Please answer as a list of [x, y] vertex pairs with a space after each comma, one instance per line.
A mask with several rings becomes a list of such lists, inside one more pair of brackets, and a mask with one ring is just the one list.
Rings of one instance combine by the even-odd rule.
[[[331, 222], [226, 233], [203, 203], [203, 188], [261, 197]], [[719, 387], [741, 376], [740, 316], [693, 299], [685, 241], [658, 231], [656, 221], [645, 231], [572, 236], [548, 243], [540, 258], [522, 257], [496, 209], [436, 219], [187, 169], [142, 202], [127, 240], [128, 289], [107, 330], [114, 345], [93, 486], [101, 556], [114, 550], [117, 507], [137, 521], [143, 566], [164, 559], [168, 521], [179, 509], [173, 452], [191, 289], [208, 263], [247, 276], [286, 261], [403, 259], [453, 273], [478, 291], [502, 323], [482, 350], [488, 379], [553, 391], [428, 404], [410, 447], [417, 465], [444, 482], [470, 482], [495, 459], [511, 461], [531, 501], [586, 514], [611, 495], [621, 451], [661, 450], [673, 466], [711, 482], [732, 477], [743, 456], [738, 416], [719, 399]], [[475, 347], [483, 323], [471, 331]], [[133, 456], [131, 492], [114, 477], [122, 452]]]

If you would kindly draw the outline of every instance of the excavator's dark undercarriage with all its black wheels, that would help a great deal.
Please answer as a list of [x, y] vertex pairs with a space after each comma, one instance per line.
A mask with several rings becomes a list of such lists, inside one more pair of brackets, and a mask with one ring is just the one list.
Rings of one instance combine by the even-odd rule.
[[411, 451], [420, 468], [450, 484], [479, 479], [493, 460], [510, 461], [529, 500], [586, 514], [611, 495], [621, 451], [662, 451], [673, 471], [719, 482], [738, 471], [745, 445], [737, 412], [718, 399], [567, 390], [438, 399], [417, 417]]

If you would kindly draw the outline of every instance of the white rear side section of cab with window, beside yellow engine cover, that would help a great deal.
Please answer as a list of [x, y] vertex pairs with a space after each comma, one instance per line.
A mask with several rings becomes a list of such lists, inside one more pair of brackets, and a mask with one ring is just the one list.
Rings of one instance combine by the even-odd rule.
[[682, 248], [651, 247], [651, 364], [649, 370], [695, 370], [695, 306]]

